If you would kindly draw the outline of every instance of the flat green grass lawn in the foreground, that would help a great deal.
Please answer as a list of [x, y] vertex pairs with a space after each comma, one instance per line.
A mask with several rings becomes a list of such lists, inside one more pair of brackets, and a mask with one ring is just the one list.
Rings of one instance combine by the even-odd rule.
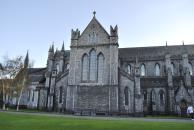
[[0, 130], [194, 130], [194, 123], [85, 119], [0, 112]]

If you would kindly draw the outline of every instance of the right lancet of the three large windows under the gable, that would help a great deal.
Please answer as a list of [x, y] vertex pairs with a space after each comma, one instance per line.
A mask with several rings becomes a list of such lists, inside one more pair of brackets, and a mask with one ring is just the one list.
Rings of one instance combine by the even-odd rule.
[[98, 82], [103, 82], [103, 71], [104, 71], [104, 56], [102, 53], [98, 55]]

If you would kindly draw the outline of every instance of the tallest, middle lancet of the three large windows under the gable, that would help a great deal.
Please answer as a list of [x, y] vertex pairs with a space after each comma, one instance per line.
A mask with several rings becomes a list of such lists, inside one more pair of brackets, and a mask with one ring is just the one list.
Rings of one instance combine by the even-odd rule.
[[90, 81], [96, 81], [96, 52], [92, 50], [90, 52]]

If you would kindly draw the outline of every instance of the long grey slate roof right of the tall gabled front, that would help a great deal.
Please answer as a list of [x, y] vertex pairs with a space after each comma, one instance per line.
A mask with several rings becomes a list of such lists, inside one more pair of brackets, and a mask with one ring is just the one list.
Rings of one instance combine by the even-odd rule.
[[174, 46], [152, 46], [152, 47], [134, 47], [119, 48], [119, 58], [134, 59], [135, 57], [162, 57], [169, 53], [171, 56], [181, 56], [183, 53], [194, 55], [194, 45], [174, 45]]

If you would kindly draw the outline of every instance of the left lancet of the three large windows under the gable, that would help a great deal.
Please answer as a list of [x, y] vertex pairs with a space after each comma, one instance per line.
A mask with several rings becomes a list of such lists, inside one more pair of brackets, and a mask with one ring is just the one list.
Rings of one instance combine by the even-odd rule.
[[82, 57], [82, 80], [86, 81], [88, 79], [88, 56], [85, 54]]

